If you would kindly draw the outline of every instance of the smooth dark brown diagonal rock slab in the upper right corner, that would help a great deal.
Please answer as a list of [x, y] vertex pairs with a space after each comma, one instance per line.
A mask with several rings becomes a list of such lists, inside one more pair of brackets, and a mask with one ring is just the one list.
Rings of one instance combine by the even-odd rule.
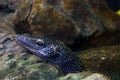
[[88, 2], [95, 14], [97, 14], [100, 20], [104, 23], [104, 26], [108, 31], [114, 32], [115, 30], [120, 30], [118, 27], [120, 25], [120, 16], [112, 11], [104, 0], [94, 2], [93, 0], [89, 0]]

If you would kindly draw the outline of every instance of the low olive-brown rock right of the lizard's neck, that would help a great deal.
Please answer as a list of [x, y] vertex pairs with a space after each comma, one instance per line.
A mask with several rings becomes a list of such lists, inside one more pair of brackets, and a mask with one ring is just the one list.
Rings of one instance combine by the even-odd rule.
[[106, 46], [80, 52], [87, 70], [108, 75], [111, 80], [120, 79], [120, 45]]

